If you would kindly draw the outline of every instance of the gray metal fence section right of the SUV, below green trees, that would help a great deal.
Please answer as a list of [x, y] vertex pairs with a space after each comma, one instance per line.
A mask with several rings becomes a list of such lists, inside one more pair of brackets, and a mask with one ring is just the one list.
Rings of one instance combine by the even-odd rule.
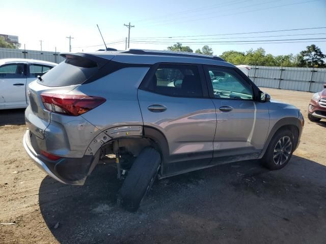
[[252, 66], [249, 77], [257, 86], [319, 92], [326, 83], [326, 69]]

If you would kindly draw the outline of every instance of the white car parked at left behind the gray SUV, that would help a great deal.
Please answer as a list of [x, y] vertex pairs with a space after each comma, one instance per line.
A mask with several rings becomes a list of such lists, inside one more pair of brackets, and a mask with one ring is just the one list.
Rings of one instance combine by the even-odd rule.
[[0, 59], [0, 109], [27, 107], [28, 84], [56, 65], [34, 59]]

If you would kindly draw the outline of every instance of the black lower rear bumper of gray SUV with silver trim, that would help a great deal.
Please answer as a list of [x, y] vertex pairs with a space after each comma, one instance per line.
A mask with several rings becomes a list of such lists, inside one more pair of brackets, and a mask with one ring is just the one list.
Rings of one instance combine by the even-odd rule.
[[27, 130], [23, 137], [23, 145], [26, 153], [40, 169], [63, 184], [84, 185], [87, 176], [98, 163], [99, 152], [95, 156], [52, 161], [37, 153], [31, 142], [33, 136], [30, 130]]

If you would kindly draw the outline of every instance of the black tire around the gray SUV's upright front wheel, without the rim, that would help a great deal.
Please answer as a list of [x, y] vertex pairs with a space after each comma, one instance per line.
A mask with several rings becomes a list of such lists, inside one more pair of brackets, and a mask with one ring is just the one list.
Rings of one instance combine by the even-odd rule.
[[[291, 148], [291, 154], [289, 156], [289, 158], [285, 161], [285, 163], [283, 163], [282, 165], [277, 165], [274, 160], [273, 160], [273, 155], [274, 155], [274, 148], [276, 146], [276, 143], [283, 137], [283, 136], [288, 136], [291, 139], [291, 143], [292, 143], [292, 148]], [[275, 133], [275, 135], [273, 136], [273, 138], [270, 140], [269, 145], [265, 151], [264, 157], [261, 159], [261, 163], [263, 166], [265, 166], [266, 168], [270, 169], [270, 170], [278, 170], [278, 169], [282, 169], [285, 165], [288, 164], [288, 162], [291, 159], [292, 153], [293, 153], [293, 149], [295, 147], [295, 138], [293, 133], [290, 130], [280, 130], [278, 132]]]

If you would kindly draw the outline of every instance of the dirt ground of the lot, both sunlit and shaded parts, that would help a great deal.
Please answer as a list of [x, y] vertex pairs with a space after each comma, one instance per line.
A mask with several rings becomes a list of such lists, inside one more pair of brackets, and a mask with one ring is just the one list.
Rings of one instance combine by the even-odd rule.
[[289, 165], [216, 166], [155, 182], [134, 214], [118, 208], [116, 171], [98, 165], [85, 186], [63, 185], [26, 155], [23, 110], [0, 111], [0, 243], [326, 243], [326, 121], [311, 93], [262, 88], [305, 115]]

